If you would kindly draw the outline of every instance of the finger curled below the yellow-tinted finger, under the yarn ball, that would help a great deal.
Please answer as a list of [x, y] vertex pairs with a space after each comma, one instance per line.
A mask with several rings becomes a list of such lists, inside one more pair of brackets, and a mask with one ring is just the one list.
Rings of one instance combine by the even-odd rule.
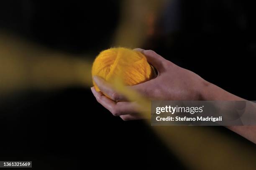
[[97, 92], [94, 87], [91, 88], [93, 95], [96, 100], [102, 104], [103, 107], [108, 109], [114, 116], [121, 116], [126, 114], [137, 113], [138, 104], [135, 102], [120, 101], [115, 102], [106, 97], [101, 92]]

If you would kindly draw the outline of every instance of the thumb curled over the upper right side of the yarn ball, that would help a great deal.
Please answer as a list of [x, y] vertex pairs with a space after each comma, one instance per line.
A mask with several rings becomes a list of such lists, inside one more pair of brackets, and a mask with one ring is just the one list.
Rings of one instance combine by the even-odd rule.
[[154, 68], [156, 68], [158, 72], [163, 71], [165, 66], [164, 63], [169, 62], [166, 59], [164, 59], [162, 56], [157, 54], [155, 51], [143, 50], [141, 48], [135, 48], [133, 50], [143, 53], [146, 56], [148, 63], [154, 66]]

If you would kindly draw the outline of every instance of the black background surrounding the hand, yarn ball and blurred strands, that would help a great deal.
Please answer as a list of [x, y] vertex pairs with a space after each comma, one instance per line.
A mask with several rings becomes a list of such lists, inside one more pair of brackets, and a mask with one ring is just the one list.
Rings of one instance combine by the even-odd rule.
[[[2, 1], [0, 29], [53, 50], [96, 56], [111, 46], [121, 3]], [[161, 11], [156, 32], [141, 48], [256, 100], [254, 9], [242, 0], [175, 0]], [[164, 167], [154, 164], [158, 160], [184, 168], [143, 121], [113, 117], [82, 86], [7, 97], [1, 101], [0, 121], [0, 160], [32, 160], [36, 169]], [[224, 127], [205, 128], [253, 145]]]

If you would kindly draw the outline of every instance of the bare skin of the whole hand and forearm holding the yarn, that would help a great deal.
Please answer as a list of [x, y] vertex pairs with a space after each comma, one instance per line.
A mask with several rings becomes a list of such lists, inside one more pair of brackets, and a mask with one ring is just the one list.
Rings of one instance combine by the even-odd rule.
[[[158, 72], [156, 78], [150, 81], [135, 86], [129, 86], [129, 88], [138, 91], [139, 94], [148, 99], [245, 100], [205, 81], [192, 71], [175, 65], [154, 51], [143, 50], [141, 48], [134, 50], [143, 53], [148, 63], [154, 66]], [[136, 101], [128, 101], [125, 99], [124, 96], [118, 94], [104, 79], [98, 76], [94, 76], [93, 79], [99, 87], [100, 92], [92, 87], [92, 93], [97, 101], [114, 116], [119, 116], [125, 121], [143, 119], [141, 114], [138, 114], [138, 104]], [[102, 92], [107, 94], [110, 98], [106, 97]], [[256, 126], [229, 126], [227, 128], [256, 143]]]

